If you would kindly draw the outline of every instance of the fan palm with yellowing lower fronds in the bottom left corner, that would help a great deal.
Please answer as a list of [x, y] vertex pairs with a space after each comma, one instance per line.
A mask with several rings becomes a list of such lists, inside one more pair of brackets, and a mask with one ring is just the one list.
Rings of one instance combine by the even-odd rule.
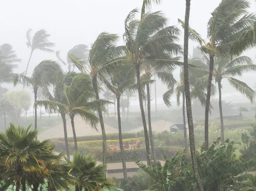
[[6, 187], [16, 182], [16, 191], [21, 185], [22, 190], [26, 190], [26, 173], [44, 170], [45, 163], [55, 158], [50, 155], [54, 148], [51, 141], [36, 141], [38, 131], [29, 128], [10, 123], [10, 127], [0, 133], [0, 156], [6, 169], [1, 178], [6, 180]]

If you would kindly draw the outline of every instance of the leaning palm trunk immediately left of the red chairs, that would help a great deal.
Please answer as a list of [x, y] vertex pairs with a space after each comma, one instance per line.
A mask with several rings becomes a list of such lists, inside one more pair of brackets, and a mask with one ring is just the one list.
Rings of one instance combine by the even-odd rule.
[[[99, 100], [99, 92], [98, 92], [98, 84], [97, 84], [97, 77], [94, 75], [92, 79], [92, 85], [93, 89], [95, 92], [95, 98], [96, 100]], [[100, 127], [101, 127], [101, 132], [102, 132], [102, 147], [103, 147], [103, 157], [102, 157], [102, 163], [103, 165], [107, 165], [107, 136], [106, 136], [106, 131], [105, 131], [105, 126], [104, 126], [104, 121], [103, 121], [103, 116], [102, 112], [100, 109], [100, 106], [98, 107], [98, 114], [99, 114], [99, 119], [100, 119]]]

